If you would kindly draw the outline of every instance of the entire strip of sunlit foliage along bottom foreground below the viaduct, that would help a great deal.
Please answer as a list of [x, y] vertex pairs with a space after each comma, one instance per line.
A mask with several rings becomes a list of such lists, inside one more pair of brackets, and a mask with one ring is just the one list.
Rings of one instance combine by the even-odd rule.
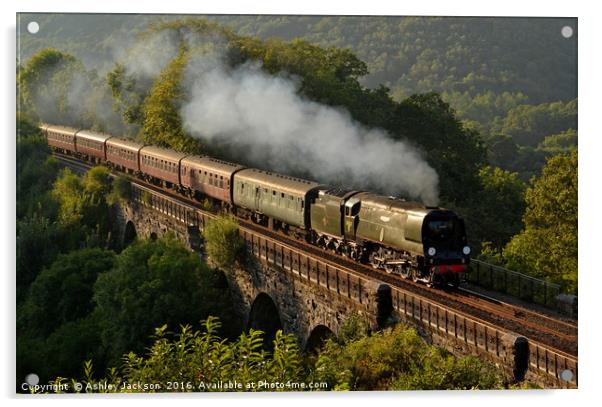
[[[355, 318], [346, 324], [357, 328], [358, 321]], [[250, 330], [226, 341], [217, 335], [221, 326], [217, 318], [209, 317], [202, 325], [202, 331], [181, 326], [178, 334], [163, 325], [155, 329], [146, 356], [124, 355], [123, 366], [111, 368], [102, 379], [94, 378], [92, 363], [87, 361], [84, 377], [77, 381], [87, 392], [104, 382], [162, 384], [158, 389], [109, 390], [112, 392], [311, 390], [289, 386], [307, 382], [326, 383], [321, 390], [494, 389], [503, 385], [501, 370], [474, 356], [455, 358], [426, 345], [413, 329], [403, 325], [370, 336], [329, 339], [316, 360], [306, 360], [310, 362], [308, 370], [302, 367], [303, 356], [291, 334], [278, 331], [269, 353], [263, 350], [261, 331]], [[176, 385], [167, 388], [166, 383]]]

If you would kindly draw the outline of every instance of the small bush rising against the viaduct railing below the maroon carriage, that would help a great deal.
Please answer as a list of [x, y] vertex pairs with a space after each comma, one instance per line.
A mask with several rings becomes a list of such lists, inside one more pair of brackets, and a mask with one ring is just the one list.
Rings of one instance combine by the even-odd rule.
[[219, 267], [230, 268], [243, 260], [245, 242], [232, 215], [218, 215], [203, 230], [207, 255]]

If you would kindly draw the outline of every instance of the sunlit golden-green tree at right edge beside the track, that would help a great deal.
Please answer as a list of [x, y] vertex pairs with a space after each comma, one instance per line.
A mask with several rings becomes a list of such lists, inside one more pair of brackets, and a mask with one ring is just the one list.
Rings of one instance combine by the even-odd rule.
[[577, 151], [548, 159], [526, 192], [525, 229], [504, 249], [509, 268], [577, 293]]

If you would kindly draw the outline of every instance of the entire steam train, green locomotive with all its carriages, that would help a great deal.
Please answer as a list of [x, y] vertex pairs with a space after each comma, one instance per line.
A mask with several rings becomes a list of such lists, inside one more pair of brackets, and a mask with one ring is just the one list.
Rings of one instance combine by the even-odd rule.
[[374, 268], [428, 285], [457, 286], [470, 261], [454, 212], [371, 192], [247, 168], [90, 130], [42, 124], [49, 146], [105, 164]]

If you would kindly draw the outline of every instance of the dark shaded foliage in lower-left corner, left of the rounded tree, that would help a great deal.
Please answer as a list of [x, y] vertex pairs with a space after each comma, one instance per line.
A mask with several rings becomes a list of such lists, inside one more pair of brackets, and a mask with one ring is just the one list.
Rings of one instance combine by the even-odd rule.
[[75, 250], [59, 255], [39, 273], [17, 308], [19, 380], [36, 372], [47, 382], [57, 374], [79, 374], [81, 360], [104, 360], [92, 287], [114, 258], [102, 249]]

